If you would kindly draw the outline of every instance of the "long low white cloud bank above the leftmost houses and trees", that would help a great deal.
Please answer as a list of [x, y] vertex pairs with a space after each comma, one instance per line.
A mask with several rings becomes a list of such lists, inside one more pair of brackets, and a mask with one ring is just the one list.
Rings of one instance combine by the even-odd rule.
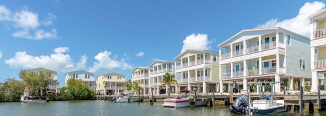
[[11, 68], [45, 67], [62, 72], [86, 68], [86, 55], [80, 56], [80, 61], [75, 64], [70, 55], [65, 54], [67, 51], [69, 51], [68, 47], [58, 47], [54, 49], [55, 53], [41, 56], [33, 56], [27, 54], [26, 51], [19, 51], [13, 58], [5, 59], [5, 63]]

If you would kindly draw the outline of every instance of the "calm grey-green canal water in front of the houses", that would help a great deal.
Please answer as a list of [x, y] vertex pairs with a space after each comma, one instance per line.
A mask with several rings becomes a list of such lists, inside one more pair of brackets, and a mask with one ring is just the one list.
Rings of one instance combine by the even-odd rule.
[[[231, 115], [229, 106], [169, 108], [161, 103], [116, 103], [100, 100], [50, 101], [48, 103], [0, 103], [0, 115]], [[237, 114], [244, 115], [244, 114]], [[292, 115], [276, 113], [272, 115]], [[310, 115], [326, 115], [319, 112]]]

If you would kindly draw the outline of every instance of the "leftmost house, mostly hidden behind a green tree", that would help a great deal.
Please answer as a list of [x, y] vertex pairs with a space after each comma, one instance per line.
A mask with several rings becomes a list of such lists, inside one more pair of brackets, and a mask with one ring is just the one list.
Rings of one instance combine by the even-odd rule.
[[37, 73], [39, 71], [51, 71], [51, 73], [53, 74], [53, 78], [50, 80], [48, 92], [57, 93], [59, 91], [60, 82], [58, 82], [57, 71], [54, 71], [52, 69], [43, 68], [43, 67], [32, 68], [32, 69], [28, 69], [28, 70], [31, 72], [35, 72], [35, 73]]

